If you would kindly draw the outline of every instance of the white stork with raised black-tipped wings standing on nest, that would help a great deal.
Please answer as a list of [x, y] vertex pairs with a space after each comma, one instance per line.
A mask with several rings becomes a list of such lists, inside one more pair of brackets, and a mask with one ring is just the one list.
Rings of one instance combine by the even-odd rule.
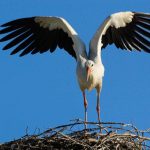
[[87, 54], [85, 44], [76, 31], [60, 17], [30, 17], [17, 19], [1, 25], [0, 34], [5, 34], [0, 42], [12, 39], [3, 50], [16, 46], [11, 55], [21, 52], [51, 53], [57, 47], [64, 49], [77, 61], [76, 74], [83, 93], [85, 122], [87, 122], [87, 100], [85, 90], [97, 90], [97, 114], [100, 122], [100, 91], [104, 76], [101, 49], [108, 44], [117, 48], [150, 53], [150, 14], [119, 12], [107, 17], [90, 41]]

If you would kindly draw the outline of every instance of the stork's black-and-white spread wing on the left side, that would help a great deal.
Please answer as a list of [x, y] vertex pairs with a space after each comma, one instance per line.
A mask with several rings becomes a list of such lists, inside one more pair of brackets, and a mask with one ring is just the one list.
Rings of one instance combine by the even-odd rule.
[[11, 40], [3, 50], [15, 46], [12, 54], [54, 52], [57, 46], [77, 58], [85, 53], [85, 46], [71, 25], [60, 17], [30, 17], [13, 20], [1, 25], [0, 34], [5, 34], [0, 42]]

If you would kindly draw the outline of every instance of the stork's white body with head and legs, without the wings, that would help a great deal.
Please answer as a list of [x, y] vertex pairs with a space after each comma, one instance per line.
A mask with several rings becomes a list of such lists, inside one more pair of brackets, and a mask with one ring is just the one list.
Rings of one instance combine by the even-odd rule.
[[[99, 58], [100, 60], [100, 58]], [[100, 122], [100, 91], [102, 88], [102, 79], [104, 76], [104, 67], [101, 61], [94, 62], [92, 60], [84, 59], [77, 62], [77, 78], [80, 89], [83, 93], [84, 109], [85, 109], [85, 122], [87, 122], [87, 100], [85, 90], [97, 90], [97, 114], [98, 121]]]

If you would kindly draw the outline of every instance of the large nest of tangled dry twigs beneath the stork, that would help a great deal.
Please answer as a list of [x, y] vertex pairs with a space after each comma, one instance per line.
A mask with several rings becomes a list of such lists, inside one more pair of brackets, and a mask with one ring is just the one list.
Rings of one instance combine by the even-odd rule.
[[150, 150], [149, 130], [131, 124], [84, 122], [50, 128], [0, 145], [0, 150]]

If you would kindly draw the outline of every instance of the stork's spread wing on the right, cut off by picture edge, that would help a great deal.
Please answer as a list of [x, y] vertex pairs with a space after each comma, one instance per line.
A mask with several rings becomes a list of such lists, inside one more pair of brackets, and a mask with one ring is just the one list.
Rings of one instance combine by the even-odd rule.
[[91, 53], [97, 54], [108, 44], [150, 53], [150, 14], [129, 11], [109, 16], [90, 42]]

